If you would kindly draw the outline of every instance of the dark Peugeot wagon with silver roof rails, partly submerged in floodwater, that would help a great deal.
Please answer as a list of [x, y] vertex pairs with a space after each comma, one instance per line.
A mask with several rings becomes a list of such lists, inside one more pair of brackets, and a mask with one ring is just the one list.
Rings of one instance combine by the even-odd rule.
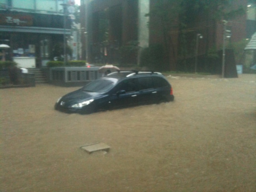
[[157, 72], [118, 71], [58, 99], [55, 109], [67, 113], [173, 101], [172, 86]]

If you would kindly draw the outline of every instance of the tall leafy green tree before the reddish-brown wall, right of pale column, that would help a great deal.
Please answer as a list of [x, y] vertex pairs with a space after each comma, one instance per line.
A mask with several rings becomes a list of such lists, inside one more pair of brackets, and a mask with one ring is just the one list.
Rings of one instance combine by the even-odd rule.
[[[159, 39], [165, 50], [164, 61], [171, 61], [170, 69], [176, 68], [177, 59], [186, 63], [187, 58], [194, 57], [193, 45], [195, 45], [196, 33], [204, 31], [207, 53], [215, 46], [214, 42], [210, 42], [209, 36], [212, 35], [210, 28], [214, 28], [218, 21], [229, 20], [244, 13], [242, 7], [235, 10], [229, 8], [238, 0], [152, 0], [151, 2], [153, 2], [151, 11], [146, 15], [150, 16], [149, 29], [153, 36], [155, 33], [161, 36]], [[178, 46], [174, 43], [177, 36]]]

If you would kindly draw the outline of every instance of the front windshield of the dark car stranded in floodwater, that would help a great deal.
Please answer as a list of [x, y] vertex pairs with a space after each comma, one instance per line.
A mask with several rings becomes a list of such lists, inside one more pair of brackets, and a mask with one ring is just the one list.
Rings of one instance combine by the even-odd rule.
[[83, 91], [88, 92], [101, 92], [104, 93], [110, 90], [117, 82], [117, 79], [108, 78], [108, 79], [96, 79], [95, 81], [90, 82], [81, 88]]

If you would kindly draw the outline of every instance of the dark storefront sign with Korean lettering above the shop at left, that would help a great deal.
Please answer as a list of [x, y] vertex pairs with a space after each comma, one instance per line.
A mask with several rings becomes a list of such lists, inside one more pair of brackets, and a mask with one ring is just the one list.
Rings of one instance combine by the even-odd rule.
[[33, 17], [21, 14], [0, 14], [0, 25], [32, 26]]

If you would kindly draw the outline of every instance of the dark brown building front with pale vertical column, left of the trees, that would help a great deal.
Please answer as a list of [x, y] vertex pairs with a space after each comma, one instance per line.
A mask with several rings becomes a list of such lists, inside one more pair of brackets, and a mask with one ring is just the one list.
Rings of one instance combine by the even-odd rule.
[[123, 46], [148, 47], [148, 12], [149, 0], [81, 0], [82, 58], [117, 63]]

